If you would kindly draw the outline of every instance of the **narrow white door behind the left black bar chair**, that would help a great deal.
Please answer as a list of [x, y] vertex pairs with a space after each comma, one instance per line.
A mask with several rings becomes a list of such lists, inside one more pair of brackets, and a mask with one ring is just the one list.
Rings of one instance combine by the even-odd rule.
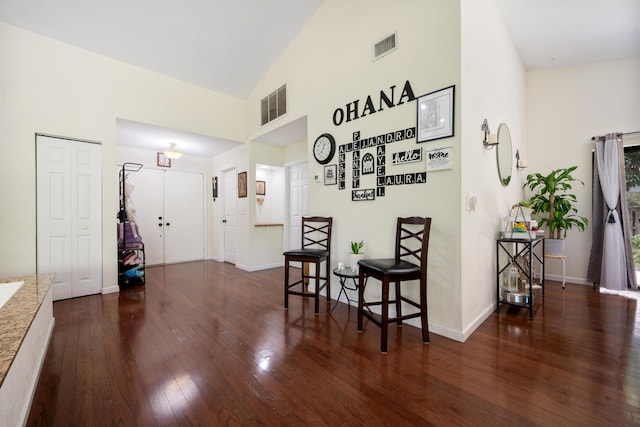
[[309, 177], [307, 163], [289, 167], [289, 247], [300, 247], [302, 217], [309, 215]]

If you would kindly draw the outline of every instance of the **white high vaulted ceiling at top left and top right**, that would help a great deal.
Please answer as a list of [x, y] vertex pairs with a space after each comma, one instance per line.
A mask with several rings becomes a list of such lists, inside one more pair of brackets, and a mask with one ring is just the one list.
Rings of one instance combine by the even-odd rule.
[[[322, 1], [0, 0], [0, 21], [243, 98]], [[497, 2], [527, 70], [640, 57], [640, 0]]]

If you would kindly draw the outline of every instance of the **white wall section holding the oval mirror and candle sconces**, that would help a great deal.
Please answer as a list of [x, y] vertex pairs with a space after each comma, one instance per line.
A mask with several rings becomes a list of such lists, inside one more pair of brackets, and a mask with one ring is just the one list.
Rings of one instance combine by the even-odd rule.
[[[506, 123], [513, 153], [527, 157], [525, 71], [495, 0], [462, 1], [462, 319], [464, 338], [496, 306], [495, 239], [502, 217], [522, 199], [522, 173], [514, 165], [508, 186], [500, 182], [496, 151], [482, 144], [482, 121], [492, 133]], [[475, 211], [466, 208], [476, 197]]]

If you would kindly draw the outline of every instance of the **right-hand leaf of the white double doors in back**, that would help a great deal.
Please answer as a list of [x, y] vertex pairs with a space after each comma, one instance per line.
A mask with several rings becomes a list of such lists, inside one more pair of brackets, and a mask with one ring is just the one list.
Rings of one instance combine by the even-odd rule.
[[204, 259], [203, 174], [165, 174], [164, 224], [166, 263]]

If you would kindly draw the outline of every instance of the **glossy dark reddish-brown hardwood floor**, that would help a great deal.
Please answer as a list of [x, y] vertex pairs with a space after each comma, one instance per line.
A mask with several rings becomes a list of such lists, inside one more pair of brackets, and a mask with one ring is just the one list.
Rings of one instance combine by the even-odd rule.
[[54, 303], [30, 426], [640, 424], [637, 301], [547, 282], [465, 343], [356, 332], [355, 307], [291, 297], [283, 270], [147, 269], [145, 287]]

